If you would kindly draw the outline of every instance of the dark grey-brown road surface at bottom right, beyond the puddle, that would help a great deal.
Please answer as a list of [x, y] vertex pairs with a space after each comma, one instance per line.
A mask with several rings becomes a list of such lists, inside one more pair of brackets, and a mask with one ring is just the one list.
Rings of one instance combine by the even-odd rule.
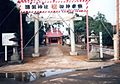
[[61, 74], [30, 84], [120, 84], [120, 64], [103, 69]]

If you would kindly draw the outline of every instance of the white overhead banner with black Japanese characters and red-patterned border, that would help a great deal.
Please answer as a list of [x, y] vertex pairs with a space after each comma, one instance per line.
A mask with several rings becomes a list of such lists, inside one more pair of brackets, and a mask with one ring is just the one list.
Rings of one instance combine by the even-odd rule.
[[23, 13], [86, 12], [90, 0], [18, 0]]

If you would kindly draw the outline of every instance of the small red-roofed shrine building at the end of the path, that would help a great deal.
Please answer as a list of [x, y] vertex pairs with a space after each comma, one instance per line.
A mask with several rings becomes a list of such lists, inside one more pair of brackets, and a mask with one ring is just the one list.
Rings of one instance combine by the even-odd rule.
[[52, 28], [48, 32], [46, 32], [46, 44], [57, 43], [62, 45], [62, 36], [63, 33], [59, 30], [59, 28]]

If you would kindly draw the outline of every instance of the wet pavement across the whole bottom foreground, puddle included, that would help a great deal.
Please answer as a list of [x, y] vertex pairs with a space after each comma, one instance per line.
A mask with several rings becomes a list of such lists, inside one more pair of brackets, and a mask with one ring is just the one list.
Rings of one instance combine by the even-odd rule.
[[120, 64], [90, 70], [48, 69], [0, 74], [0, 84], [120, 84]]

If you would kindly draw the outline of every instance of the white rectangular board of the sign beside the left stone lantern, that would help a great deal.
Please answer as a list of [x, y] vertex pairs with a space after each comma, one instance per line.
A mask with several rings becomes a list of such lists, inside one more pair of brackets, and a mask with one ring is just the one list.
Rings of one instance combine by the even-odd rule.
[[16, 42], [10, 41], [11, 38], [15, 38], [15, 33], [2, 33], [2, 45], [3, 46], [13, 46]]

